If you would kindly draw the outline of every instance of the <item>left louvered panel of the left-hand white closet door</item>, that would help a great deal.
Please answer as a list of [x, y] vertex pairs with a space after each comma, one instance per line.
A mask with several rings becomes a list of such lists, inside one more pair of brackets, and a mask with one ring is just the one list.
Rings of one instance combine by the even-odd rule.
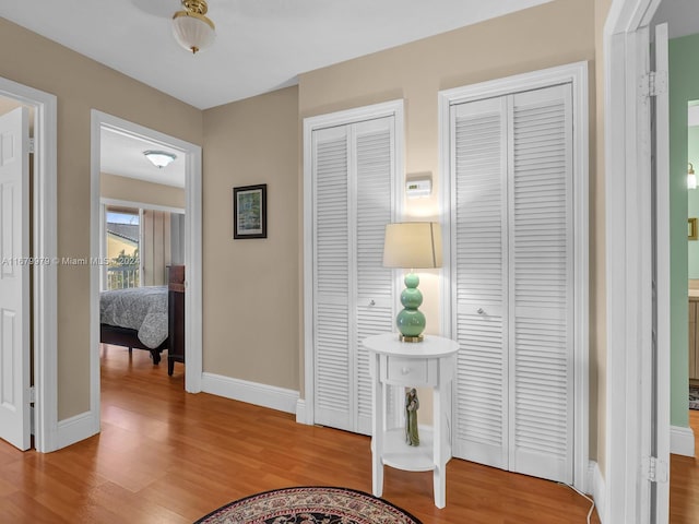
[[352, 430], [350, 373], [348, 134], [313, 133], [316, 421]]

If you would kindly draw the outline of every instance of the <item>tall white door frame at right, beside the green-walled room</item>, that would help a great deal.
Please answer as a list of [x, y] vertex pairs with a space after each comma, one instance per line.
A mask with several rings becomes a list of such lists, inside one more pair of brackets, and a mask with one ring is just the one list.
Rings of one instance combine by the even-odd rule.
[[[604, 523], [650, 522], [643, 496], [652, 405], [650, 391], [652, 293], [650, 187], [650, 105], [643, 83], [649, 73], [649, 25], [660, 0], [615, 0], [604, 27], [605, 193], [606, 193], [606, 346]], [[648, 83], [645, 83], [648, 85]], [[659, 205], [657, 221], [667, 209]], [[662, 242], [659, 238], [659, 242]], [[659, 258], [659, 295], [670, 269]], [[659, 301], [665, 300], [659, 297]], [[663, 312], [659, 310], [659, 314]], [[659, 319], [659, 327], [666, 325]], [[670, 433], [666, 336], [659, 333], [659, 434]], [[667, 490], [657, 508], [666, 509]], [[656, 522], [667, 522], [657, 512]]]

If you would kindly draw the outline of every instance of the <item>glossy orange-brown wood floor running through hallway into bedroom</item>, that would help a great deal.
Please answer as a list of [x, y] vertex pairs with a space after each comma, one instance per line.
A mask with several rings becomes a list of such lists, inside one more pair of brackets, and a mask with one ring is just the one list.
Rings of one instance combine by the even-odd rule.
[[[166, 365], [152, 366], [146, 352], [129, 357], [106, 346], [100, 434], [46, 454], [0, 441], [0, 522], [191, 523], [227, 502], [281, 487], [371, 491], [367, 437], [186, 394], [182, 372], [177, 364], [169, 378]], [[692, 424], [699, 425], [697, 414]], [[697, 464], [673, 457], [672, 468], [672, 522], [697, 523]], [[460, 460], [447, 468], [443, 510], [433, 504], [429, 473], [387, 467], [383, 497], [425, 524], [580, 524], [590, 508], [565, 486]], [[592, 522], [600, 522], [596, 513]]]

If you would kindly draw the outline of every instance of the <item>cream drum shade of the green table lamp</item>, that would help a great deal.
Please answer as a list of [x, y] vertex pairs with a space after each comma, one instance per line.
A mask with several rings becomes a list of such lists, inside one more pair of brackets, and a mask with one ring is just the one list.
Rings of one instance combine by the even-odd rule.
[[436, 222], [403, 222], [386, 226], [383, 266], [441, 267], [441, 227]]

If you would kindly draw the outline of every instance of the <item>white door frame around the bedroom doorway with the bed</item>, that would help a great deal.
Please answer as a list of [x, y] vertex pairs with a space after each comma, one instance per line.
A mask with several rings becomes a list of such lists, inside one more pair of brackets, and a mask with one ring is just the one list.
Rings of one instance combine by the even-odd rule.
[[[202, 380], [202, 199], [201, 199], [201, 147], [169, 136], [111, 115], [92, 110], [91, 114], [91, 242], [90, 255], [99, 258], [99, 157], [102, 129], [109, 129], [150, 142], [161, 143], [181, 152], [186, 158], [185, 175], [185, 266], [187, 267], [185, 294], [185, 390], [201, 392]], [[99, 431], [99, 266], [90, 271], [90, 409], [94, 432]]]

